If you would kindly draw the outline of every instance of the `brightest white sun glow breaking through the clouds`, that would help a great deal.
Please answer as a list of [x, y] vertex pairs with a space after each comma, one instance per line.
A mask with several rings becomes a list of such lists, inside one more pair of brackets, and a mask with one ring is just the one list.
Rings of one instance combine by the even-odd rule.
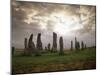
[[60, 35], [67, 35], [71, 31], [70, 24], [72, 20], [70, 17], [66, 17], [63, 13], [56, 13], [53, 14], [52, 20], [55, 21], [54, 32]]

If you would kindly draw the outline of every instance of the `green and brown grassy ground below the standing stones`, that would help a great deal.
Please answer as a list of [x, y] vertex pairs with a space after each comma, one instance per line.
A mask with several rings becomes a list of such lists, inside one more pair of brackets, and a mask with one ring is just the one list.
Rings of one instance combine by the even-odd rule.
[[42, 56], [21, 56], [15, 52], [12, 57], [12, 72], [36, 73], [51, 71], [86, 70], [96, 68], [96, 50], [89, 48], [82, 51], [66, 51], [65, 55], [44, 53]]

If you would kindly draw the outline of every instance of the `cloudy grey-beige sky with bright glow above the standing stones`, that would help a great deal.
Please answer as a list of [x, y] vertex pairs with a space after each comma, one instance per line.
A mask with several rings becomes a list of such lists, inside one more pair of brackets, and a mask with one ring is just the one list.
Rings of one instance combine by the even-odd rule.
[[52, 46], [53, 32], [57, 33], [58, 49], [61, 36], [64, 49], [70, 48], [75, 37], [88, 47], [95, 46], [95, 6], [12, 0], [11, 7], [11, 44], [15, 48], [24, 48], [24, 38], [29, 39], [32, 33], [35, 44], [41, 33], [43, 47], [48, 43]]

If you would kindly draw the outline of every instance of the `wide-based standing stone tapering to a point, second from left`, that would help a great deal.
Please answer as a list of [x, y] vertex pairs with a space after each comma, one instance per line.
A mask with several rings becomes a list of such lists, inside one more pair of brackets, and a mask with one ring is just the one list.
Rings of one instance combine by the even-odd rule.
[[35, 44], [33, 42], [33, 34], [30, 35], [29, 41], [28, 41], [28, 53], [32, 54], [32, 52], [35, 51]]

